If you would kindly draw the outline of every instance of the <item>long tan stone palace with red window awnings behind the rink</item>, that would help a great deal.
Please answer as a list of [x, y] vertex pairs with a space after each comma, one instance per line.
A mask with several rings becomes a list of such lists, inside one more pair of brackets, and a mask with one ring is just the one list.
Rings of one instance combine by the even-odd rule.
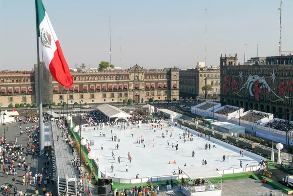
[[[43, 66], [42, 63], [41, 65]], [[34, 73], [35, 71], [36, 74]], [[5, 82], [8, 78], [12, 78], [10, 77], [12, 74], [2, 74], [3, 82], [1, 82], [0, 85], [1, 89], [5, 89], [5, 92], [4, 90], [3, 92], [1, 91], [0, 100], [3, 103], [3, 106], [9, 105], [6, 104], [9, 97], [12, 97], [10, 103], [13, 105], [16, 103], [38, 103], [35, 95], [35, 92], [37, 93], [38, 91], [36, 88], [38, 87], [35, 85], [36, 79], [34, 77], [34, 75], [37, 75], [37, 69], [35, 69], [35, 71], [26, 73], [26, 77], [23, 76], [23, 74], [19, 76], [18, 73], [15, 73], [16, 77], [21, 78], [21, 83], [18, 83], [17, 86], [13, 83]], [[52, 78], [48, 79], [42, 77], [42, 86], [48, 84], [49, 89], [51, 89], [49, 92], [44, 92], [44, 90], [42, 90], [43, 105], [48, 105], [48, 103], [44, 103], [44, 96], [45, 98], [52, 97], [49, 102], [55, 102], [56, 104], [63, 102], [69, 104], [74, 104], [75, 102], [86, 102], [88, 104], [117, 103], [123, 102], [124, 99], [133, 99], [138, 103], [144, 103], [149, 98], [158, 101], [168, 98], [179, 98], [179, 69], [175, 67], [159, 70], [143, 69], [139, 65], [135, 65], [130, 69], [125, 70], [71, 72], [71, 74], [74, 83], [70, 88], [63, 87], [54, 79], [52, 80]], [[22, 82], [22, 78], [24, 78], [24, 82]], [[27, 80], [25, 78], [27, 78]], [[23, 102], [23, 96], [20, 96], [24, 94], [21, 94], [21, 92], [17, 92], [20, 93], [17, 94], [15, 92], [15, 88], [19, 88], [21, 91], [22, 87], [24, 88], [24, 85], [26, 85], [26, 102]], [[12, 89], [12, 92], [10, 92], [10, 88]], [[44, 89], [44, 87], [42, 87], [42, 89]], [[10, 94], [8, 94], [8, 92]]]

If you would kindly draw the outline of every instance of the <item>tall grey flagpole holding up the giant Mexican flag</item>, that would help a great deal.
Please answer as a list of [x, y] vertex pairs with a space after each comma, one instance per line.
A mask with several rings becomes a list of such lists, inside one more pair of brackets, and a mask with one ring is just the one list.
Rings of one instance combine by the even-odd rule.
[[40, 50], [39, 50], [39, 23], [38, 23], [38, 6], [37, 0], [35, 0], [36, 7], [36, 32], [37, 32], [37, 61], [38, 61], [38, 93], [39, 93], [39, 135], [40, 135], [40, 151], [43, 153], [44, 150], [44, 128], [43, 128], [43, 117], [42, 117], [42, 81], [41, 81], [41, 65], [40, 65]]

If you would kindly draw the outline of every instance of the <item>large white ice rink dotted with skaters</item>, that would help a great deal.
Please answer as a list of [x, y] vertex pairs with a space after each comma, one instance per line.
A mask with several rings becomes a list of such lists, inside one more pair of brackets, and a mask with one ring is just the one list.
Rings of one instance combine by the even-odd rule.
[[[204, 134], [202, 137], [197, 137], [194, 135], [193, 141], [186, 139], [184, 143], [183, 130], [180, 128], [168, 129], [166, 134], [165, 129], [150, 130], [148, 124], [141, 124], [139, 128], [130, 127], [127, 130], [116, 129], [115, 127], [109, 128], [109, 126], [104, 126], [102, 130], [93, 130], [93, 127], [85, 128], [82, 131], [82, 136], [88, 140], [94, 140], [95, 145], [91, 146], [91, 150], [95, 152], [96, 157], [100, 160], [101, 171], [105, 174], [105, 166], [107, 165], [108, 176], [114, 176], [117, 178], [135, 178], [136, 174], [139, 177], [150, 177], [150, 176], [161, 176], [161, 175], [171, 175], [174, 171], [177, 173], [177, 167], [184, 166], [198, 166], [206, 167], [202, 165], [202, 160], [207, 160], [207, 165], [210, 168], [216, 170], [229, 169], [229, 168], [239, 168], [240, 159], [243, 161], [243, 166], [246, 164], [249, 166], [257, 165], [259, 160], [254, 160], [253, 158], [246, 156], [244, 152], [244, 157], [239, 157], [239, 152], [232, 151], [230, 149], [224, 148], [217, 144], [217, 140], [214, 138], [205, 139]], [[112, 141], [110, 131], [113, 131], [113, 136], [117, 135], [117, 140]], [[105, 131], [106, 136], [99, 136], [100, 131]], [[165, 138], [162, 138], [162, 132], [165, 133]], [[170, 133], [172, 132], [172, 137]], [[131, 137], [133, 133], [133, 137]], [[181, 139], [179, 139], [179, 134], [181, 134]], [[191, 134], [191, 132], [190, 132]], [[140, 138], [145, 138], [146, 147], [143, 144], [137, 143]], [[120, 142], [118, 142], [118, 137], [120, 137]], [[153, 141], [154, 140], [154, 141]], [[169, 145], [167, 145], [167, 140], [169, 140]], [[176, 151], [175, 148], [172, 149], [172, 143], [174, 145], [179, 142], [179, 150]], [[216, 148], [213, 148], [213, 141], [215, 142]], [[205, 150], [205, 144], [210, 143], [210, 150]], [[104, 150], [101, 150], [101, 146], [104, 146]], [[119, 150], [115, 150], [115, 144], [119, 145]], [[154, 147], [153, 147], [154, 145]], [[111, 152], [115, 154], [115, 160], [112, 160]], [[192, 151], [195, 152], [195, 157], [192, 157]], [[127, 158], [127, 153], [130, 152], [132, 160], [129, 163]], [[223, 162], [223, 155], [226, 156], [226, 162]], [[228, 155], [230, 155], [230, 162], [228, 161]], [[121, 156], [121, 163], [118, 162], [118, 157]], [[174, 160], [176, 164], [174, 164]], [[168, 164], [170, 161], [170, 164]], [[111, 165], [114, 166], [114, 172], [111, 173]], [[128, 172], [126, 173], [126, 165], [128, 165]]]

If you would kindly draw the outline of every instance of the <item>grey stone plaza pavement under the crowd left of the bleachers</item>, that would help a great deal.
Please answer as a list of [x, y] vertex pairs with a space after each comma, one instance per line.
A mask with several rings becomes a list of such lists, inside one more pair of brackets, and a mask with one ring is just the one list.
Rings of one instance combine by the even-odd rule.
[[[28, 143], [28, 139], [27, 139], [27, 134], [24, 132], [25, 131], [25, 127], [29, 127], [31, 128], [32, 125], [35, 125], [34, 123], [27, 123], [27, 124], [22, 124], [21, 123], [21, 130], [23, 131], [23, 134], [22, 136], [20, 136], [20, 128], [18, 128], [17, 126], [17, 122], [15, 123], [11, 123], [9, 125], [5, 125], [8, 126], [8, 131], [5, 130], [5, 137], [6, 137], [6, 141], [7, 142], [14, 142], [15, 141], [15, 138], [17, 137], [17, 143], [18, 144], [22, 144], [23, 147], [24, 147], [24, 152], [25, 152], [25, 149], [27, 147], [27, 143]], [[3, 126], [0, 127], [0, 134], [3, 133]], [[30, 141], [30, 144], [32, 144], [32, 141]], [[37, 148], [37, 144], [35, 144], [36, 148]], [[36, 149], [35, 148], [35, 149]], [[49, 153], [50, 153], [50, 150], [47, 150]], [[35, 164], [33, 164], [33, 158], [35, 158]], [[32, 171], [32, 175], [36, 174], [36, 173], [42, 173], [42, 166], [43, 166], [43, 162], [44, 161], [47, 161], [47, 158], [46, 156], [42, 156], [42, 157], [32, 157], [32, 155], [28, 155], [28, 157], [25, 159], [25, 162], [30, 165], [30, 170]], [[17, 189], [19, 191], [22, 191], [22, 193], [24, 194], [25, 192], [27, 193], [27, 195], [31, 196], [31, 195], [34, 195], [35, 196], [35, 191], [36, 191], [36, 188], [39, 190], [39, 194], [40, 196], [43, 195], [43, 192], [42, 192], [42, 188], [43, 188], [43, 182], [42, 182], [42, 186], [41, 187], [37, 187], [37, 181], [36, 181], [36, 184], [27, 184], [27, 185], [23, 185], [21, 184], [21, 180], [22, 180], [22, 176], [25, 174], [25, 171], [24, 171], [24, 168], [18, 168], [17, 165], [18, 165], [19, 162], [15, 162], [14, 163], [14, 167], [17, 169], [17, 174], [15, 176], [16, 178], [16, 182], [15, 184], [13, 185], [12, 187], [12, 190], [11, 190], [11, 195], [13, 195], [13, 189], [14, 187], [17, 187]], [[4, 166], [6, 168], [8, 168], [8, 164], [4, 164]], [[49, 170], [48, 170], [48, 173], [51, 173], [53, 174], [52, 172], [52, 165], [50, 164], [49, 165]], [[43, 174], [44, 178], [46, 177], [45, 174]], [[13, 174], [8, 174], [8, 177], [6, 177], [5, 174], [0, 174], [0, 185], [2, 184], [12, 184], [12, 178], [13, 178]], [[54, 182], [54, 185], [51, 184], [51, 181], [48, 182], [47, 184], [47, 191], [50, 191], [50, 190], [53, 190], [53, 196], [56, 196], [57, 195], [57, 187], [56, 187], [56, 182]], [[3, 192], [1, 191], [0, 192], [2, 195]]]

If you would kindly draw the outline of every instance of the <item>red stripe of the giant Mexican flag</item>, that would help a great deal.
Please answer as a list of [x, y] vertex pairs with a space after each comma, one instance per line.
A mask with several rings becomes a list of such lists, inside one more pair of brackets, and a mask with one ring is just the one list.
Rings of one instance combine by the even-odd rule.
[[54, 57], [49, 65], [51, 75], [64, 87], [72, 87], [73, 77], [69, 71], [59, 41], [57, 40], [55, 44], [57, 49], [54, 52]]

